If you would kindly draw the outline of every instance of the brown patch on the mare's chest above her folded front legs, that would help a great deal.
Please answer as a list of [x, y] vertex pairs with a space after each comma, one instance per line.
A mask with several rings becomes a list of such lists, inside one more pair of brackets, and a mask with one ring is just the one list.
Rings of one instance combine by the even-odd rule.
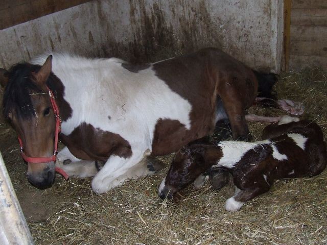
[[107, 160], [111, 155], [124, 158], [132, 156], [131, 145], [122, 136], [95, 128], [86, 122], [82, 122], [67, 136], [60, 134], [59, 138], [75, 157], [83, 160]]

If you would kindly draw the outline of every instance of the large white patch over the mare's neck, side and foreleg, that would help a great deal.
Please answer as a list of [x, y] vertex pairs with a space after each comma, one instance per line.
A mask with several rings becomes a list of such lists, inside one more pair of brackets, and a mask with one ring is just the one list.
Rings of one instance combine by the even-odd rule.
[[[43, 64], [46, 57], [34, 63]], [[62, 122], [61, 132], [69, 135], [85, 122], [119, 134], [131, 145], [131, 158], [111, 156], [92, 180], [92, 188], [98, 193], [131, 177], [129, 169], [143, 159], [147, 150], [151, 153], [159, 119], [178, 120], [186, 129], [191, 128], [192, 105], [159, 79], [152, 66], [135, 73], [122, 67], [122, 63], [125, 62], [117, 58], [87, 59], [62, 54], [54, 54], [52, 59], [52, 71], [65, 86], [64, 100], [73, 110], [72, 117]]]

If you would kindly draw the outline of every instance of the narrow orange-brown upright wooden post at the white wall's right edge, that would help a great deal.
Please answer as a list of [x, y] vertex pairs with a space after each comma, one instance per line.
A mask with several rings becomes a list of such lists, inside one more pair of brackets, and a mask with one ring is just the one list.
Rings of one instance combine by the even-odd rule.
[[284, 71], [289, 70], [291, 39], [291, 0], [284, 0]]

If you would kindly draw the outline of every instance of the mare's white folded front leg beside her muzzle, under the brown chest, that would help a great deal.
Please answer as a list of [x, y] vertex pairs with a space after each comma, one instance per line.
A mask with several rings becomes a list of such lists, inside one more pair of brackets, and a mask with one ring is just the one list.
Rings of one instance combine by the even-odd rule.
[[69, 177], [76, 178], [92, 177], [99, 171], [95, 161], [76, 158], [69, 152], [67, 146], [58, 153], [56, 167], [63, 169]]

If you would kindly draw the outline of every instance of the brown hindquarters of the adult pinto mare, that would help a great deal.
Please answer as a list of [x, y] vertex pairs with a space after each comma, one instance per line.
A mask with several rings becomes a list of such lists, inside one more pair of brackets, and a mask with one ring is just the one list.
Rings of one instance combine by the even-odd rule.
[[[185, 134], [186, 142], [213, 133], [218, 97], [230, 120], [233, 138], [248, 138], [244, 110], [253, 104], [258, 91], [258, 81], [249, 67], [216, 48], [205, 48], [155, 63], [153, 69], [158, 78], [192, 105], [192, 127]], [[197, 132], [197, 137], [192, 132]]]

